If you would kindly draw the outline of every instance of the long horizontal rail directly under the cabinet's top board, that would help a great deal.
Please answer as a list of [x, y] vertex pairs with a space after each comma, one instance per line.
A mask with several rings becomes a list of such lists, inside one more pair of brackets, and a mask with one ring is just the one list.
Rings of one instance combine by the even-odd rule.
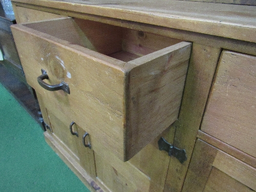
[[252, 42], [246, 42], [246, 41], [236, 40], [231, 38], [224, 38], [220, 36], [213, 37], [207, 34], [184, 31], [184, 30], [179, 30], [174, 28], [167, 28], [162, 26], [153, 26], [145, 23], [132, 22], [130, 20], [123, 20], [118, 18], [110, 18], [110, 17], [92, 15], [87, 13], [79, 13], [79, 12], [61, 10], [61, 9], [50, 8], [50, 7], [38, 7], [31, 4], [14, 3], [14, 5], [23, 6], [29, 9], [36, 9], [36, 10], [45, 11], [45, 12], [52, 12], [52, 13], [60, 14], [63, 16], [65, 15], [70, 17], [94, 20], [96, 22], [102, 22], [102, 23], [111, 24], [115, 26], [135, 29], [138, 31], [154, 33], [161, 36], [180, 39], [183, 41], [196, 42], [197, 44], [201, 44], [205, 46], [211, 46], [211, 47], [222, 48], [222, 49], [238, 51], [246, 54], [256, 55], [256, 46]]

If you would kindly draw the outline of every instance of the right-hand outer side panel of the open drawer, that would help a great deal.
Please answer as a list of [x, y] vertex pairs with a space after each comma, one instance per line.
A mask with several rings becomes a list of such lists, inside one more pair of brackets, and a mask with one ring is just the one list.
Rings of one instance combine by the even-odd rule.
[[180, 42], [129, 62], [137, 67], [129, 73], [127, 146], [139, 143], [141, 149], [177, 120], [190, 49], [189, 42]]

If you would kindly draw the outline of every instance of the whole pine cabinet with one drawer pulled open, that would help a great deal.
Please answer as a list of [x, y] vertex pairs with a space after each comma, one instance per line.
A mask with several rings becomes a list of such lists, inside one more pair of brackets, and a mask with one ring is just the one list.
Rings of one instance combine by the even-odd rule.
[[255, 7], [13, 5], [46, 141], [91, 191], [255, 190]]

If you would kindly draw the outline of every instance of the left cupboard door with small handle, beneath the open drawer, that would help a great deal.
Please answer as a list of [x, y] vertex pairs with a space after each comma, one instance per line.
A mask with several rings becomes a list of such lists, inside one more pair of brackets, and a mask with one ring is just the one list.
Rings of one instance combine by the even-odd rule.
[[[83, 136], [87, 133], [83, 128], [84, 126], [78, 125], [73, 122], [69, 115], [63, 113], [62, 111], [55, 108], [52, 102], [58, 103], [56, 100], [49, 102], [48, 95], [41, 95], [36, 93], [40, 109], [42, 112], [42, 117], [46, 123], [47, 133], [46, 139], [51, 142], [53, 148], [58, 148], [58, 151], [65, 151], [70, 158], [67, 158], [71, 163], [76, 161], [79, 166], [86, 171], [86, 174], [90, 175], [91, 178], [96, 177], [95, 162], [94, 162], [94, 152], [91, 147], [84, 146], [91, 144], [90, 135], [86, 138]], [[66, 112], [66, 110], [63, 110]], [[72, 131], [72, 133], [71, 133]], [[84, 143], [83, 143], [84, 139]], [[53, 141], [54, 140], [54, 141]], [[55, 143], [55, 144], [53, 144]], [[62, 148], [63, 150], [59, 150]], [[64, 153], [64, 154], [65, 154]], [[65, 160], [65, 162], [67, 162]]]

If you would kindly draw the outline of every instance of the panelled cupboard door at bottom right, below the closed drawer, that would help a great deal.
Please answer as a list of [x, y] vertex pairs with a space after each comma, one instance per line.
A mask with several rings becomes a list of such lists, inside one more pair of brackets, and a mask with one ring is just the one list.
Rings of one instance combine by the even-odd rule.
[[198, 139], [182, 192], [252, 192], [255, 181], [256, 168]]

